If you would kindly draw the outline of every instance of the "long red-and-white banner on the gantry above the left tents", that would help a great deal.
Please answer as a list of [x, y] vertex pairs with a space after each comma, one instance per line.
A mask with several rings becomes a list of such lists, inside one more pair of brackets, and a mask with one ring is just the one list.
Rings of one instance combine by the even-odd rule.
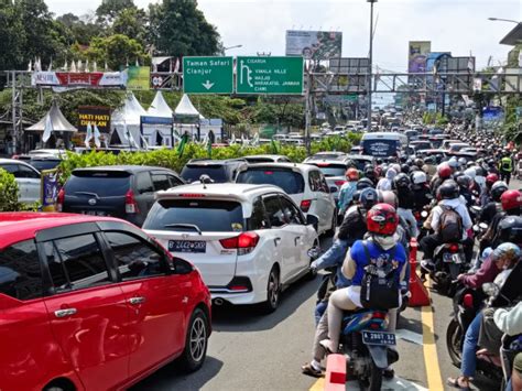
[[127, 86], [127, 74], [122, 72], [33, 72], [33, 87], [113, 87]]

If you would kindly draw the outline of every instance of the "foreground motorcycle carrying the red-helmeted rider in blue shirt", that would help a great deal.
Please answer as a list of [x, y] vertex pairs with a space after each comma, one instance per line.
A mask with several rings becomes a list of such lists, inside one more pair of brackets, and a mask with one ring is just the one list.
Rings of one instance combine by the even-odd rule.
[[388, 312], [361, 308], [346, 312], [340, 336], [341, 351], [347, 357], [348, 372], [359, 381], [361, 390], [382, 387], [382, 371], [399, 360], [393, 347], [395, 334], [385, 332]]

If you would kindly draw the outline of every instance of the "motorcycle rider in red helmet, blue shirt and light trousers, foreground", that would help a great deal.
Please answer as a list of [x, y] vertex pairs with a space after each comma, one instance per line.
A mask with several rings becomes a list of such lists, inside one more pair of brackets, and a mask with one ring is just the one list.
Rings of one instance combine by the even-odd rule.
[[[342, 263], [342, 273], [351, 280], [351, 285], [335, 291], [328, 302], [328, 339], [320, 341], [329, 352], [337, 352], [339, 345], [342, 311], [354, 311], [362, 307], [361, 283], [365, 268], [369, 264], [389, 264], [393, 269], [396, 286], [396, 297], [400, 303], [400, 283], [404, 279], [406, 252], [395, 238], [399, 215], [388, 204], [377, 204], [367, 215], [367, 228], [370, 237], [367, 241], [358, 240], [347, 253]], [[379, 260], [379, 262], [378, 262]], [[370, 293], [371, 295], [371, 293]], [[395, 297], [390, 297], [395, 300]], [[399, 304], [400, 305], [400, 304]]]

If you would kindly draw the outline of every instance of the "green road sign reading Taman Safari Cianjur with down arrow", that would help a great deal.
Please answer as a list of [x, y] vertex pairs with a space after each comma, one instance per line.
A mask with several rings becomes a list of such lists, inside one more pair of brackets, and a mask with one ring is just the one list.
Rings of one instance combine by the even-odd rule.
[[232, 57], [183, 57], [185, 94], [232, 94]]

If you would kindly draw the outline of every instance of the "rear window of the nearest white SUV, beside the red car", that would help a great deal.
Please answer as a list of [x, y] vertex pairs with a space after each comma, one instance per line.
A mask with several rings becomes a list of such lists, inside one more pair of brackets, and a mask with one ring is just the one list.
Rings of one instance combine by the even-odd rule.
[[162, 199], [154, 204], [143, 225], [151, 230], [242, 231], [244, 219], [241, 204], [216, 199]]

